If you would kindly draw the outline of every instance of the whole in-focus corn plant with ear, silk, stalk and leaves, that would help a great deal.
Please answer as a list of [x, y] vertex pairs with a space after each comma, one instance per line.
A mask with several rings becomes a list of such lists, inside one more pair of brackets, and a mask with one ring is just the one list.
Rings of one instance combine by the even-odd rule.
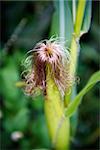
[[[80, 51], [80, 37], [91, 24], [91, 1], [54, 1], [50, 39], [36, 44], [25, 61], [25, 93], [44, 95], [44, 112], [52, 147], [68, 150], [71, 119], [83, 96], [100, 81], [100, 72], [90, 77], [76, 94], [75, 76]], [[55, 38], [57, 37], [57, 38]], [[31, 60], [31, 61], [30, 61]], [[75, 127], [73, 130], [73, 135]]]

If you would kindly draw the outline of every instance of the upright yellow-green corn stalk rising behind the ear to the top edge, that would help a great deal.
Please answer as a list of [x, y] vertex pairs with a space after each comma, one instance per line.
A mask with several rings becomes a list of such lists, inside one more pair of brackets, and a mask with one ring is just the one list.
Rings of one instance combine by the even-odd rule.
[[[74, 33], [72, 36], [71, 42], [71, 64], [70, 64], [70, 75], [75, 76], [76, 68], [77, 68], [77, 59], [78, 59], [78, 49], [79, 49], [79, 38], [81, 33], [81, 27], [83, 23], [84, 13], [85, 13], [86, 0], [79, 0], [76, 21], [74, 26]], [[65, 93], [65, 105], [67, 106], [70, 102], [71, 94], [67, 95]]]

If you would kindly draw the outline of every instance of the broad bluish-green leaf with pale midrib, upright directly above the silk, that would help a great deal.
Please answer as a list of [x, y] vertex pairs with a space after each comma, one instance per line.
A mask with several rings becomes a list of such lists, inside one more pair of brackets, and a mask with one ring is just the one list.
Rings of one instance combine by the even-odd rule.
[[[50, 36], [56, 35], [67, 40], [70, 46], [73, 33], [71, 3], [65, 0], [54, 1], [55, 12], [52, 18]], [[63, 39], [63, 40], [64, 40]]]

